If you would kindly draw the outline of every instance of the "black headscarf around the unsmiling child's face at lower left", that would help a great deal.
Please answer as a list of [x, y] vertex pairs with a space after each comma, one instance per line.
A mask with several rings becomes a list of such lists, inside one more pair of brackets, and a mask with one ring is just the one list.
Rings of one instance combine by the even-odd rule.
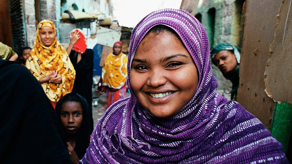
[[[73, 99], [73, 100], [72, 100]], [[93, 131], [93, 119], [92, 119], [92, 112], [90, 112], [89, 105], [85, 98], [80, 96], [77, 93], [68, 93], [63, 96], [56, 105], [56, 118], [58, 124], [58, 131], [62, 137], [63, 143], [67, 146], [67, 138], [65, 136], [64, 128], [61, 122], [61, 108], [64, 102], [67, 101], [75, 101], [80, 102], [82, 106], [82, 122], [79, 130], [76, 134], [76, 145], [74, 150], [77, 152], [78, 157], [81, 159], [86, 152], [86, 149], [90, 142], [90, 135]]]

